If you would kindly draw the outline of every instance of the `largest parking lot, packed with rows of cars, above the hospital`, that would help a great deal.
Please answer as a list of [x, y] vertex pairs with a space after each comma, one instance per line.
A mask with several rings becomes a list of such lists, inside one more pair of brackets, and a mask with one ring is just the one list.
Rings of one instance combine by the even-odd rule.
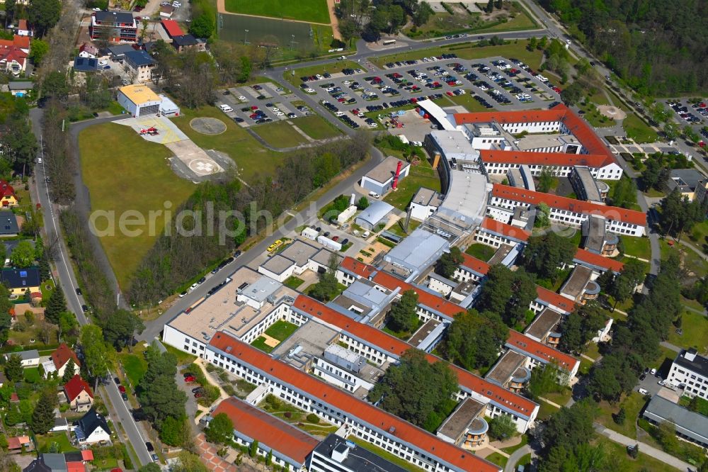
[[454, 54], [389, 62], [382, 73], [348, 69], [299, 77], [299, 81], [302, 91], [352, 128], [378, 128], [364, 113], [385, 112], [430, 96], [442, 106], [455, 104], [443, 96], [468, 94], [486, 109], [509, 106], [523, 110], [559, 101], [561, 90], [513, 58], [462, 60]]

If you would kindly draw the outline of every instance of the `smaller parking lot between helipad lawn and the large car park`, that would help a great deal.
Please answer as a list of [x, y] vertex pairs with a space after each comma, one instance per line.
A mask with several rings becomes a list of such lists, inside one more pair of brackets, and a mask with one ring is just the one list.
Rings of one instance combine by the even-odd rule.
[[[310, 116], [307, 106], [294, 105], [295, 94], [273, 82], [230, 87], [217, 91], [216, 105], [236, 123], [247, 128], [263, 123]], [[229, 109], [230, 108], [230, 109]]]

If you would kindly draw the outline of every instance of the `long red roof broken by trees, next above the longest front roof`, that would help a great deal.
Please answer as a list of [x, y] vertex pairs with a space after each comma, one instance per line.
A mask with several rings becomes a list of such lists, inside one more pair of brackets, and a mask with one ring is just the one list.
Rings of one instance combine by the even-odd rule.
[[[329, 325], [339, 327], [349, 335], [369, 342], [379, 347], [379, 349], [382, 349], [382, 351], [389, 352], [395, 356], [401, 356], [404, 352], [413, 347], [411, 344], [401, 341], [401, 339], [397, 337], [387, 335], [385, 332], [377, 330], [375, 327], [356, 322], [348, 316], [342, 315], [338, 311], [307, 296], [298, 296], [292, 306], [314, 318], [323, 320]], [[431, 364], [441, 360], [433, 356], [433, 354], [428, 354], [427, 359]], [[497, 403], [501, 403], [517, 414], [528, 417], [533, 412], [535, 403], [532, 401], [516, 395], [509, 390], [505, 390], [495, 383], [486, 381], [484, 378], [475, 376], [474, 373], [460, 369], [454, 364], [450, 364], [450, 368], [457, 374], [457, 382], [460, 386], [479, 393], [479, 395], [494, 400]]]

